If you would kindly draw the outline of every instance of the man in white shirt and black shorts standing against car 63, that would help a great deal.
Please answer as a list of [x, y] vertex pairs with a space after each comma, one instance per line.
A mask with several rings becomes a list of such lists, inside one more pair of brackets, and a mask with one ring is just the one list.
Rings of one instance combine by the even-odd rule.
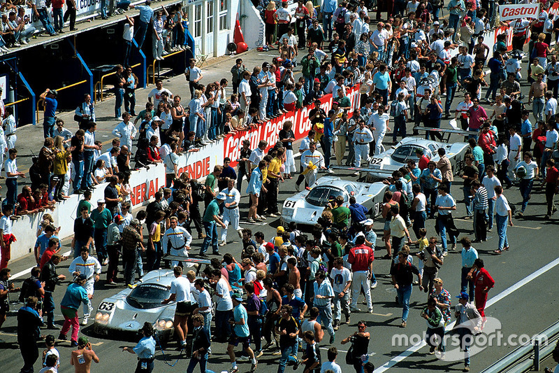
[[187, 346], [187, 335], [188, 335], [188, 316], [194, 311], [195, 303], [192, 301], [192, 295], [190, 293], [191, 285], [189, 279], [182, 276], [182, 267], [173, 268], [175, 274], [175, 279], [170, 283], [170, 296], [161, 302], [161, 304], [168, 304], [175, 300], [177, 302], [177, 308], [175, 309], [175, 320], [173, 320], [173, 326], [175, 327], [175, 333], [179, 339], [180, 347]]

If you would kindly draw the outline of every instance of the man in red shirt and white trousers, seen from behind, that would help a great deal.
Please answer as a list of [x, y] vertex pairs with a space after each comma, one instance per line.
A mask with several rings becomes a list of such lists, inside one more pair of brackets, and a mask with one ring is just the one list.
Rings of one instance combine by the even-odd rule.
[[347, 261], [351, 264], [351, 270], [354, 272], [354, 279], [351, 282], [351, 311], [360, 312], [357, 308], [357, 299], [361, 293], [361, 287], [365, 292], [365, 300], [369, 314], [372, 314], [371, 300], [371, 274], [372, 261], [375, 260], [375, 253], [369, 246], [365, 246], [365, 236], [357, 236], [355, 239], [355, 247], [351, 248]]

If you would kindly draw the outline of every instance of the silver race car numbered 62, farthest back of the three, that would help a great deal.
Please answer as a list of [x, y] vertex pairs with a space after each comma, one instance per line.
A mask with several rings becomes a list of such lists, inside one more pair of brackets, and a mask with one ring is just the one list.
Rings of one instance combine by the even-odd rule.
[[407, 160], [414, 160], [417, 163], [419, 161], [415, 152], [417, 148], [423, 150], [423, 154], [435, 162], [440, 160], [437, 150], [444, 148], [451, 162], [453, 173], [458, 174], [464, 167], [464, 155], [468, 146], [467, 143], [441, 143], [419, 137], [406, 137], [391, 149], [371, 157], [369, 166], [366, 169], [362, 167], [359, 171], [366, 172], [365, 180], [367, 181], [384, 180], [391, 176], [393, 171], [407, 166]]

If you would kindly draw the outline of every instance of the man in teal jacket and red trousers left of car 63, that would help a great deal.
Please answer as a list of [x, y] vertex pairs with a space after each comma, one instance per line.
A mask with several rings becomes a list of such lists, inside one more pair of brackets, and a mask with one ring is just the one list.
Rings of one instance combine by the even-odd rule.
[[72, 327], [71, 346], [78, 346], [78, 332], [80, 332], [80, 323], [78, 323], [78, 309], [80, 304], [83, 303], [85, 307], [89, 307], [89, 300], [92, 299], [93, 294], [87, 294], [85, 290], [85, 283], [87, 283], [87, 276], [79, 274], [74, 282], [66, 288], [66, 293], [60, 302], [60, 309], [62, 316], [64, 316], [64, 325], [60, 330], [58, 339], [66, 341], [66, 334]]

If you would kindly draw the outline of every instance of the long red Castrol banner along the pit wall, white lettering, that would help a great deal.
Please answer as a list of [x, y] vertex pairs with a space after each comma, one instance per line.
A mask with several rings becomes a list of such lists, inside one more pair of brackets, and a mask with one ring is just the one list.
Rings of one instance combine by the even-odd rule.
[[[358, 108], [359, 104], [359, 87], [360, 85], [354, 85], [346, 89], [346, 96], [349, 98], [351, 103], [350, 113]], [[324, 109], [326, 113], [332, 108], [332, 94], [326, 94], [320, 99], [320, 107]], [[250, 148], [256, 149], [261, 140], [268, 143], [266, 146], [266, 151], [275, 146], [279, 140], [279, 131], [283, 129], [284, 122], [290, 120], [293, 123], [291, 130], [295, 134], [295, 139], [303, 139], [307, 136], [307, 133], [312, 127], [312, 123], [309, 120], [309, 113], [314, 108], [314, 104], [303, 106], [303, 108], [298, 108], [295, 111], [289, 111], [284, 115], [268, 120], [263, 124], [259, 125], [257, 128], [250, 129], [249, 131], [240, 131], [236, 134], [231, 134], [223, 139], [224, 142], [224, 157], [229, 157], [231, 159], [231, 166], [235, 167], [237, 160], [240, 157], [240, 149], [242, 148], [242, 141], [249, 140]], [[293, 149], [295, 150], [295, 149]]]

